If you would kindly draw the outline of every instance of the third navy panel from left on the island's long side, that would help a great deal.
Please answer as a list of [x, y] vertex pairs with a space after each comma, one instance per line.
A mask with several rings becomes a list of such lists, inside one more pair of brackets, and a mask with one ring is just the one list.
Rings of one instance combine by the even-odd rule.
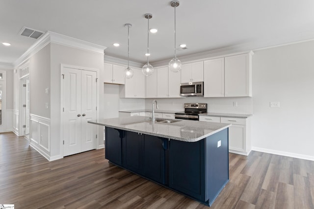
[[143, 175], [165, 184], [165, 150], [168, 139], [144, 135]]

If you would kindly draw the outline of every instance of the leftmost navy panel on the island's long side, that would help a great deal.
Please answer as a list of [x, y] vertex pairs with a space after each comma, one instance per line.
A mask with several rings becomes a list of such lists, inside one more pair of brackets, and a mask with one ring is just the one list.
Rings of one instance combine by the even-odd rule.
[[105, 159], [122, 165], [122, 139], [125, 131], [105, 127]]

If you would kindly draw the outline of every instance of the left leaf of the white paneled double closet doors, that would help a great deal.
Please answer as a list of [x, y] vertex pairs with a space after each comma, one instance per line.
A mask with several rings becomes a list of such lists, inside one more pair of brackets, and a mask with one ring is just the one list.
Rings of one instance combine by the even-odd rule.
[[64, 68], [63, 79], [63, 156], [81, 150], [81, 72]]

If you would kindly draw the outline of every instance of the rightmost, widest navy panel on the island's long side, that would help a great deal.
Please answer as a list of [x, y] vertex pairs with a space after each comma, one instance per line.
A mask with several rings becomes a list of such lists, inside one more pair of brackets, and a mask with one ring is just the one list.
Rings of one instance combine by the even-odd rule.
[[205, 139], [196, 142], [170, 140], [169, 187], [205, 200]]

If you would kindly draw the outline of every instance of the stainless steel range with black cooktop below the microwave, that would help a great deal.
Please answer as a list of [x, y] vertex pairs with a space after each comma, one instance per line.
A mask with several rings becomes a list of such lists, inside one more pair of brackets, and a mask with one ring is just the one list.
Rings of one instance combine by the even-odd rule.
[[198, 120], [198, 114], [200, 113], [207, 113], [206, 103], [184, 103], [184, 112], [175, 113], [175, 118]]

